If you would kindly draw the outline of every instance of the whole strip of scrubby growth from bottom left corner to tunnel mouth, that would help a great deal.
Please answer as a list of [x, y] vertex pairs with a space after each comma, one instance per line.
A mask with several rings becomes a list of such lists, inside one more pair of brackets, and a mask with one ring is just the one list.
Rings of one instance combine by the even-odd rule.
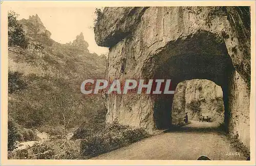
[[[70, 140], [52, 139], [26, 150], [9, 153], [10, 159], [89, 159], [135, 143], [150, 136], [142, 128], [99, 124], [98, 128], [78, 128]], [[26, 152], [25, 152], [26, 151]]]

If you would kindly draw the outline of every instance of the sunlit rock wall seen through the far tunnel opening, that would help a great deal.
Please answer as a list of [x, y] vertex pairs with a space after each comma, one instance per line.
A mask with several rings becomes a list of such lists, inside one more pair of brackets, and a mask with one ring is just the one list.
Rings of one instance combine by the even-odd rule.
[[189, 80], [178, 84], [172, 108], [172, 123], [183, 122], [185, 112], [189, 120], [209, 114], [211, 121], [224, 122], [223, 94], [220, 86], [209, 80]]

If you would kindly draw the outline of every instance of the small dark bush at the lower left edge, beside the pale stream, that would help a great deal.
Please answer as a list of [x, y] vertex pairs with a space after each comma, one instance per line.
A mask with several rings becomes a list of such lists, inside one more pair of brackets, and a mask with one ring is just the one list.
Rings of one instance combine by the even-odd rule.
[[8, 151], [16, 149], [17, 127], [13, 120], [8, 120]]

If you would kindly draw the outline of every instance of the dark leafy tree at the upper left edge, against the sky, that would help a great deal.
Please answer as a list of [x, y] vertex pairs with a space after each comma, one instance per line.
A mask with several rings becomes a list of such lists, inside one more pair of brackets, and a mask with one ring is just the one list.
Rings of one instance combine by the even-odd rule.
[[28, 40], [23, 31], [23, 25], [17, 20], [18, 14], [8, 12], [8, 46], [21, 46], [26, 49]]

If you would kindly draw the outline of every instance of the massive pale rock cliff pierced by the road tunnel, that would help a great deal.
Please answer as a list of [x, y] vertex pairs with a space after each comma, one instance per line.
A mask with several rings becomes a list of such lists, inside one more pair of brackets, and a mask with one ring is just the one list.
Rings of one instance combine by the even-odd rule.
[[[249, 147], [249, 7], [105, 8], [94, 31], [97, 44], [110, 47], [109, 79], [172, 79], [173, 89], [207, 79], [221, 86], [227, 130]], [[111, 94], [106, 121], [167, 128], [172, 103], [170, 96]]]

